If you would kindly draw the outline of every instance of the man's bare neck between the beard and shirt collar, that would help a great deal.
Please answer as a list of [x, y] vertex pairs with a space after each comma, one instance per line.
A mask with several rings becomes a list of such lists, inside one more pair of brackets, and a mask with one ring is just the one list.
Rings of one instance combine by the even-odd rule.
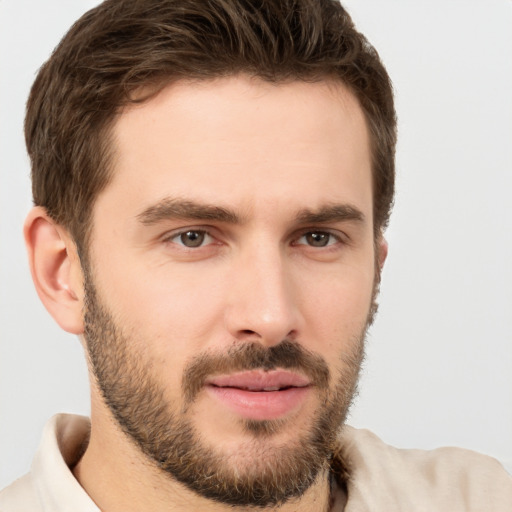
[[[89, 445], [73, 473], [103, 512], [242, 512], [254, 507], [233, 507], [203, 498], [152, 464], [113, 420], [95, 417]], [[321, 471], [300, 497], [261, 511], [310, 512], [343, 510], [340, 489], [331, 490], [328, 469]], [[333, 500], [335, 508], [331, 508]]]

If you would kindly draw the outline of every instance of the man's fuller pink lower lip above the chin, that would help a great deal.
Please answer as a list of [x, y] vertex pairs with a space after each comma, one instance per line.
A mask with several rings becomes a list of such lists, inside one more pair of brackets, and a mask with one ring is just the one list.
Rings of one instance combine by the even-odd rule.
[[238, 388], [207, 386], [211, 395], [235, 413], [251, 420], [275, 420], [297, 409], [310, 388], [289, 388], [281, 391], [247, 391]]

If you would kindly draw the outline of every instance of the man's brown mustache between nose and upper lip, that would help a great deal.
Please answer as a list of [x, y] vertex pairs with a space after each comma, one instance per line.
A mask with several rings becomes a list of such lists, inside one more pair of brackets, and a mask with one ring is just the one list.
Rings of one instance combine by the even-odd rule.
[[296, 341], [283, 340], [264, 347], [260, 343], [232, 345], [224, 354], [205, 353], [187, 365], [182, 377], [185, 405], [191, 404], [208, 377], [250, 370], [298, 371], [319, 389], [329, 387], [330, 372], [324, 358], [305, 349]]

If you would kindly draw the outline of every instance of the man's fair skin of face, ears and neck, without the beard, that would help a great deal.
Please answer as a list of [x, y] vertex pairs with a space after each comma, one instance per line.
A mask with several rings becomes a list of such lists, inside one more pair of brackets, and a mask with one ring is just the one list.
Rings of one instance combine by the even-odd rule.
[[[103, 303], [151, 363], [165, 399], [184, 405], [186, 364], [238, 343], [293, 339], [336, 378], [341, 356], [361, 342], [375, 261], [382, 267], [387, 253], [373, 237], [368, 130], [355, 97], [330, 82], [177, 83], [125, 109], [113, 136], [114, 174], [94, 205], [89, 260]], [[233, 218], [166, 211], [177, 200]], [[313, 215], [322, 211], [329, 218]], [[185, 247], [184, 230], [207, 235]], [[312, 244], [311, 233], [327, 245]], [[82, 335], [83, 276], [71, 237], [41, 208], [29, 214], [25, 236], [41, 299], [64, 329]], [[74, 473], [102, 510], [234, 510], [152, 465], [120, 431], [93, 377], [91, 396], [91, 439]], [[261, 442], [270, 451], [293, 444], [319, 402], [314, 390], [305, 393]], [[188, 414], [241, 469], [261, 456], [240, 416], [210, 393], [200, 392]], [[279, 510], [326, 510], [328, 496], [322, 473]]]

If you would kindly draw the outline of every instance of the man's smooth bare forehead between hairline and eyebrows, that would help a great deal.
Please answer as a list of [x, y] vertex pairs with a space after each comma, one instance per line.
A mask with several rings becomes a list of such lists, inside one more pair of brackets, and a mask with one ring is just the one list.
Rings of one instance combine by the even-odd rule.
[[100, 203], [123, 197], [141, 210], [172, 196], [244, 211], [339, 201], [371, 208], [368, 130], [340, 83], [178, 82], [126, 108], [113, 139], [113, 178]]

